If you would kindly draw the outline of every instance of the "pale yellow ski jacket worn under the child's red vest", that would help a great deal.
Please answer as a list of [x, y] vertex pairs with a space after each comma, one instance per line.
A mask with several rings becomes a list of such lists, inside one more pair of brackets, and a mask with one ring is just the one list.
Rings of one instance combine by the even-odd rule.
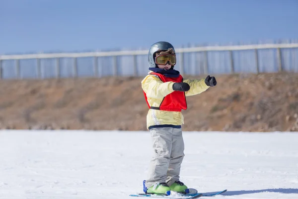
[[[185, 92], [185, 96], [193, 96], [206, 91], [209, 86], [205, 84], [205, 80], [183, 80], [189, 84], [190, 90]], [[156, 75], [147, 75], [142, 80], [142, 89], [147, 95], [147, 100], [150, 106], [159, 107], [163, 98], [174, 92], [174, 82], [163, 83]], [[147, 114], [147, 128], [155, 125], [181, 125], [184, 123], [184, 117], [181, 112], [165, 111], [149, 109]]]

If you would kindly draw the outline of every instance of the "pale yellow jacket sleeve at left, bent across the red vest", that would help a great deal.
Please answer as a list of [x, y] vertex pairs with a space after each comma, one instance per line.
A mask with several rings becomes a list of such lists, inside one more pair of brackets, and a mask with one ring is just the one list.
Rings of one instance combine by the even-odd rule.
[[174, 92], [174, 82], [163, 83], [158, 77], [148, 75], [142, 80], [142, 89], [148, 98], [160, 99]]

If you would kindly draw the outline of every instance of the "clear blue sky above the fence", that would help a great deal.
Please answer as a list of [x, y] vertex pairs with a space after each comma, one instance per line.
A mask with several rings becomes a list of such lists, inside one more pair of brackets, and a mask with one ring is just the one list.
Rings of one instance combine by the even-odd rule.
[[0, 54], [298, 38], [298, 0], [0, 0]]

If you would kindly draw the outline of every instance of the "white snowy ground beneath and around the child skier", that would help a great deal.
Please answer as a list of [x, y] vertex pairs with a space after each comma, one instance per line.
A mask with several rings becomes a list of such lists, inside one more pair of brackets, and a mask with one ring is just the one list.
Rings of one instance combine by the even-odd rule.
[[[184, 132], [184, 141], [188, 187], [298, 199], [298, 133]], [[137, 199], [150, 158], [147, 131], [3, 130], [0, 199]]]

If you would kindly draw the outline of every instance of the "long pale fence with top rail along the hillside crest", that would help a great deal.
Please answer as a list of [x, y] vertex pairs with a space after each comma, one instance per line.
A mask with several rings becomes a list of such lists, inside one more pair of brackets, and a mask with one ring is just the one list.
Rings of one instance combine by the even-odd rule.
[[[282, 50], [291, 49], [291, 52], [285, 52], [282, 54]], [[262, 50], [271, 50], [270, 52], [261, 52]], [[240, 52], [242, 53], [240, 53]], [[243, 52], [249, 51], [249, 52]], [[237, 53], [240, 54], [237, 54]], [[298, 43], [283, 43], [283, 44], [254, 44], [254, 45], [230, 45], [230, 46], [203, 46], [203, 47], [189, 47], [189, 48], [177, 48], [176, 53], [178, 56], [178, 69], [181, 74], [207, 74], [210, 72], [219, 73], [235, 73], [235, 72], [270, 72], [270, 63], [274, 65], [273, 71], [294, 71], [298, 72]], [[195, 54], [194, 54], [195, 53]], [[212, 54], [213, 53], [213, 54]], [[224, 54], [223, 54], [224, 53]], [[133, 68], [133, 73], [127, 75], [143, 75], [145, 71], [142, 72], [138, 67], [140, 62], [141, 65], [146, 64], [148, 50], [132, 50], [132, 51], [110, 51], [110, 52], [81, 52], [81, 53], [48, 53], [48, 54], [22, 54], [22, 55], [0, 55], [0, 78], [3, 78], [3, 66], [4, 63], [6, 68], [11, 68], [14, 65], [14, 78], [23, 78], [21, 74], [21, 68], [25, 65], [24, 60], [35, 60], [34, 63], [27, 63], [28, 67], [27, 73], [32, 73], [32, 66], [35, 66], [35, 78], [45, 78], [47, 75], [47, 69], [42, 70], [42, 65], [44, 68], [51, 67], [54, 68], [54, 77], [61, 77], [61, 59], [71, 59], [67, 61], [68, 68], [72, 68], [72, 77], [80, 76], [79, 71], [82, 73], [88, 68], [89, 75], [85, 76], [104, 76], [105, 67], [112, 68], [112, 74], [107, 75], [124, 75], [122, 71], [126, 69]], [[290, 55], [290, 56], [289, 56]], [[122, 65], [120, 66], [121, 60], [119, 57], [130, 56], [130, 60], [127, 58], [122, 60]], [[140, 57], [139, 57], [140, 56]], [[101, 71], [99, 70], [99, 58], [109, 57], [112, 58], [109, 61], [103, 62], [101, 60]], [[238, 59], [236, 59], [238, 57]], [[239, 58], [240, 57], [240, 58]], [[90, 60], [85, 60], [84, 62], [78, 63], [81, 58], [91, 58]], [[132, 59], [131, 59], [132, 58]], [[241, 60], [242, 59], [242, 60]], [[246, 60], [247, 63], [244, 63]], [[272, 60], [273, 59], [273, 60]], [[51, 62], [47, 64], [44, 62]], [[52, 62], [54, 60], [54, 62]], [[9, 62], [10, 61], [10, 62]], [[11, 61], [14, 63], [12, 64]], [[237, 61], [241, 64], [237, 63]], [[9, 62], [9, 63], [8, 63]], [[139, 63], [138, 63], [139, 62]], [[188, 63], [186, 63], [188, 62]], [[222, 63], [221, 63], [222, 62]], [[260, 62], [262, 66], [265, 65], [262, 70], [260, 68]], [[291, 63], [290, 63], [291, 62]], [[199, 63], [199, 64], [198, 64]], [[221, 65], [222, 64], [222, 65]], [[9, 65], [9, 66], [8, 66]], [[48, 66], [46, 66], [48, 65]], [[81, 65], [81, 68], [78, 68]], [[90, 67], [92, 65], [92, 67]], [[133, 67], [131, 67], [133, 65]], [[148, 64], [147, 64], [148, 65]], [[185, 66], [188, 67], [185, 67]], [[228, 66], [229, 65], [229, 66]], [[241, 66], [240, 66], [241, 65]], [[249, 66], [249, 70], [245, 65]], [[284, 67], [283, 65], [287, 65]], [[71, 67], [70, 67], [71, 66]], [[110, 67], [112, 66], [112, 67]], [[194, 66], [194, 67], [190, 67]], [[251, 69], [253, 68], [253, 69]], [[148, 68], [147, 68], [148, 69]], [[268, 69], [268, 70], [266, 70]], [[69, 69], [68, 69], [69, 70]], [[110, 70], [110, 69], [109, 69]], [[9, 70], [7, 70], [9, 71]], [[26, 70], [24, 70], [26, 71]], [[195, 72], [192, 72], [195, 71]], [[221, 72], [222, 71], [222, 72]], [[10, 72], [11, 73], [11, 72]], [[48, 72], [50, 73], [50, 72]], [[6, 75], [7, 76], [7, 75]]]

